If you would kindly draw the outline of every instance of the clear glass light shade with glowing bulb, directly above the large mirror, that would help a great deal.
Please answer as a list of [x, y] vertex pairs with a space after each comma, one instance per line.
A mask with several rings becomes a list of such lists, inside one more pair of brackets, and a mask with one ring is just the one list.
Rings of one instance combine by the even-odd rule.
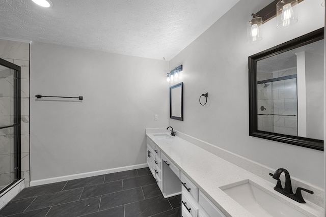
[[297, 0], [280, 0], [276, 4], [277, 28], [287, 28], [298, 21], [295, 5]]

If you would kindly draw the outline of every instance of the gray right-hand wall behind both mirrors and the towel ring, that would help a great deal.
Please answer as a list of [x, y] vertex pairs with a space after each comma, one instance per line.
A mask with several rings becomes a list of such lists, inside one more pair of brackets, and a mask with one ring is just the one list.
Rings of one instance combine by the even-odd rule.
[[[319, 1], [306, 0], [297, 5], [298, 23], [277, 29], [276, 20], [270, 20], [261, 26], [263, 40], [248, 44], [246, 22], [269, 3], [241, 0], [170, 61], [170, 68], [183, 65], [184, 76], [184, 121], [170, 119], [170, 125], [268, 167], [286, 168], [323, 188], [322, 151], [249, 136], [248, 56], [324, 25]], [[201, 106], [198, 99], [204, 92], [209, 99]]]

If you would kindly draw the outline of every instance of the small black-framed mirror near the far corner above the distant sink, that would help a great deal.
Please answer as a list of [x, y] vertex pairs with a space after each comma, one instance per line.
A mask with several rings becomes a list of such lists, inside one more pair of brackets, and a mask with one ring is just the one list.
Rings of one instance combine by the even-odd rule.
[[170, 86], [170, 118], [183, 120], [183, 82]]

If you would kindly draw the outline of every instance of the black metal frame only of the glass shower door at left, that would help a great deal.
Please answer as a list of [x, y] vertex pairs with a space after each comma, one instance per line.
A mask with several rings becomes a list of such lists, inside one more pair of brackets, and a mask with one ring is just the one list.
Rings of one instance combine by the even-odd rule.
[[15, 141], [15, 147], [14, 150], [16, 154], [16, 159], [15, 159], [15, 167], [14, 167], [14, 173], [15, 173], [15, 178], [14, 181], [12, 181], [10, 184], [8, 184], [5, 188], [0, 190], [0, 194], [5, 192], [7, 189], [9, 189], [13, 184], [15, 184], [20, 178], [21, 178], [21, 140], [20, 140], [20, 134], [21, 134], [21, 114], [20, 114], [20, 109], [21, 109], [21, 100], [20, 100], [20, 66], [17, 66], [15, 64], [10, 63], [9, 61], [0, 58], [0, 65], [5, 66], [9, 69], [13, 69], [16, 71], [16, 77], [14, 77], [14, 80], [16, 80], [16, 83], [14, 85], [14, 89], [16, 91], [16, 99], [15, 99], [15, 122], [13, 125], [9, 126], [3, 126], [0, 127], [0, 129], [5, 129], [5, 128], [14, 128], [14, 141]]

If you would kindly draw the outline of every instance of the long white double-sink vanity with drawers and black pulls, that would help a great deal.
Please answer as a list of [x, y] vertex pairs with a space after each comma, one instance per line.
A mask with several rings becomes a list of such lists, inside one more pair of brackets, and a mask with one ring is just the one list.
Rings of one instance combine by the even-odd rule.
[[181, 194], [183, 217], [323, 216], [323, 208], [316, 204], [299, 204], [274, 191], [273, 180], [266, 181], [199, 147], [205, 143], [201, 140], [178, 135], [147, 129], [146, 156], [164, 197]]

